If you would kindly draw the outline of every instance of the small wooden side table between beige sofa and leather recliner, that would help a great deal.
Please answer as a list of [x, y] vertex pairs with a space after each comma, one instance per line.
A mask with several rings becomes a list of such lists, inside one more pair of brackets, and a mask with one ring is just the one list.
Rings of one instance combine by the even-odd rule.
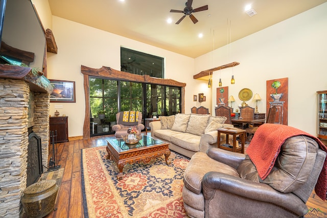
[[[220, 140], [218, 140], [218, 148], [224, 149], [231, 152], [241, 152], [244, 154], [244, 145], [245, 145], [245, 130], [238, 129], [238, 128], [221, 128], [217, 129], [218, 131], [218, 139], [220, 139], [220, 134], [226, 134], [226, 143], [220, 144]], [[232, 144], [229, 144], [229, 135], [233, 136]], [[239, 135], [241, 139], [241, 146], [238, 147], [236, 143], [236, 137]]]

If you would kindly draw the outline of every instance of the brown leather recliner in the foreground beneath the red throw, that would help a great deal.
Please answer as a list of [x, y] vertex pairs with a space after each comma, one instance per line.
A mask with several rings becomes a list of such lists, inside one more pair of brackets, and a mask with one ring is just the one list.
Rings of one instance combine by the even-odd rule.
[[325, 156], [311, 137], [290, 137], [261, 180], [248, 155], [217, 148], [197, 152], [184, 172], [185, 211], [190, 217], [302, 216]]

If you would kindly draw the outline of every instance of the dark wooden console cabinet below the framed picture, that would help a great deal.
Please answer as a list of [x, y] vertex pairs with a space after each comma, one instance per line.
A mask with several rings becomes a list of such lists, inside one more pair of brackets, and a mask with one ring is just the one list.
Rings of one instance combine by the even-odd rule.
[[68, 116], [50, 117], [50, 131], [56, 134], [57, 142], [68, 141]]

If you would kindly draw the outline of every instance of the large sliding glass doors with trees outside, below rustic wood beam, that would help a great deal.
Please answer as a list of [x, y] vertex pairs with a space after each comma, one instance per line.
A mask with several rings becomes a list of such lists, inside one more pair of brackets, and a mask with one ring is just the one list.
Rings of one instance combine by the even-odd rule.
[[141, 111], [143, 119], [181, 111], [181, 87], [89, 77], [89, 93], [90, 136], [113, 134], [119, 111]]

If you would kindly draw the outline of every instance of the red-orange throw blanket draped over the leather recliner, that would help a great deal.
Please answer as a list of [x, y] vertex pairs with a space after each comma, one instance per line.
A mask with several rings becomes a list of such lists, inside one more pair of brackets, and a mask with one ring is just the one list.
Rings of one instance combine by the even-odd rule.
[[[269, 175], [285, 140], [297, 135], [306, 135], [313, 138], [318, 142], [319, 148], [327, 152], [326, 146], [317, 137], [293, 127], [279, 124], [264, 124], [255, 131], [246, 153], [254, 163], [261, 179], [265, 179]], [[326, 199], [327, 158], [324, 161], [315, 191], [322, 200]]]

